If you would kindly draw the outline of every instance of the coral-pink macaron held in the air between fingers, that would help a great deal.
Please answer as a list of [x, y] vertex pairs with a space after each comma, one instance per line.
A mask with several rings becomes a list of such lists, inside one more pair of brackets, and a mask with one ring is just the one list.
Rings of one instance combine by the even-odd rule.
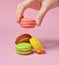
[[20, 26], [23, 28], [34, 28], [36, 25], [36, 22], [34, 19], [29, 18], [22, 18]]

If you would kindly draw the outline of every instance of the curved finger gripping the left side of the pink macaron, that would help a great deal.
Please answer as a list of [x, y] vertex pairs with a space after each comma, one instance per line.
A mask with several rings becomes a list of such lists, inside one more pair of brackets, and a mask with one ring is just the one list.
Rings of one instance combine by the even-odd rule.
[[18, 4], [17, 10], [16, 10], [16, 16], [17, 16], [17, 22], [21, 20], [23, 17], [23, 13], [25, 9], [33, 2], [34, 0], [27, 0], [23, 1], [22, 3]]

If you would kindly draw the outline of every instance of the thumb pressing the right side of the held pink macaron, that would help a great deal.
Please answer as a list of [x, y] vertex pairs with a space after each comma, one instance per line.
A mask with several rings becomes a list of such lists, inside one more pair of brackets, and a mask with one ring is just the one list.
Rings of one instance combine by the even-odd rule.
[[42, 3], [42, 7], [36, 17], [36, 24], [38, 26], [41, 25], [42, 20], [43, 20], [44, 16], [46, 15], [46, 13], [48, 12], [48, 10], [50, 9], [50, 7], [51, 7], [51, 4], [49, 4], [48, 1], [45, 1]]

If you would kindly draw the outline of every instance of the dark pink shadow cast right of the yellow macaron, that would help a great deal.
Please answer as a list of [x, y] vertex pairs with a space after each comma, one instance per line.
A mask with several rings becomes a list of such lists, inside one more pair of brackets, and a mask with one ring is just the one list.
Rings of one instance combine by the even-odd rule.
[[54, 49], [59, 48], [59, 40], [52, 40], [52, 39], [41, 39], [41, 43], [45, 47], [45, 49]]

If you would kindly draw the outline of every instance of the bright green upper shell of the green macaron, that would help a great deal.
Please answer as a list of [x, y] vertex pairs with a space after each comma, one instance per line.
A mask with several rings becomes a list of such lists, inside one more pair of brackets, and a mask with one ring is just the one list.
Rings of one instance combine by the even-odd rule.
[[28, 42], [22, 42], [22, 43], [16, 45], [16, 50], [18, 50], [18, 51], [30, 51], [30, 50], [32, 50], [32, 47]]

